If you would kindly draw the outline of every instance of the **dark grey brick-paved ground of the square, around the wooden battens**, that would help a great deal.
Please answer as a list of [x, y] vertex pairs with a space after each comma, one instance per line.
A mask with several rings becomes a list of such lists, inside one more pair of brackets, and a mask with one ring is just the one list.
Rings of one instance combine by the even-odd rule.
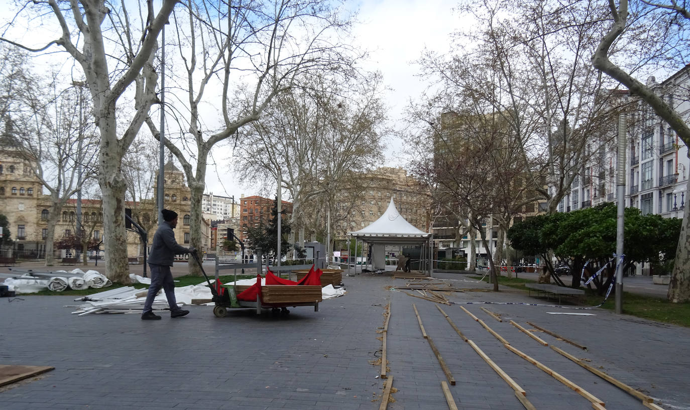
[[[485, 288], [455, 275], [456, 287]], [[211, 307], [191, 307], [185, 318], [142, 321], [138, 314], [70, 315], [69, 296], [0, 299], [0, 364], [48, 365], [55, 370], [0, 388], [0, 409], [378, 409], [383, 380], [377, 330], [391, 302], [387, 334], [395, 402], [388, 409], [447, 409], [444, 373], [422, 338], [419, 310], [457, 381], [459, 409], [523, 409], [513, 390], [464, 342], [435, 303], [395, 287], [406, 280], [346, 276], [348, 293], [319, 311], [291, 309], [288, 318], [256, 316], [251, 309], [215, 318]], [[388, 289], [393, 286], [393, 289]], [[456, 292], [469, 309], [513, 347], [604, 400], [609, 410], [643, 410], [640, 400], [600, 380], [507, 321], [534, 322], [588, 347], [582, 351], [538, 332], [549, 343], [660, 400], [665, 409], [690, 409], [690, 329], [615, 316], [610, 311], [566, 309], [509, 289]], [[490, 302], [491, 304], [483, 304]], [[502, 315], [497, 322], [486, 307]], [[537, 409], [591, 409], [575, 391], [511, 353], [460, 305], [442, 308], [455, 325], [526, 391]], [[553, 315], [591, 313], [595, 316]]]

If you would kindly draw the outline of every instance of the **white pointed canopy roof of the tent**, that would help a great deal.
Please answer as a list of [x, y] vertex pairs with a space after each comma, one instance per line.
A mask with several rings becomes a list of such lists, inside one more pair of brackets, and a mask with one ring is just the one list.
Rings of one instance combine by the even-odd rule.
[[348, 232], [348, 235], [368, 243], [386, 244], [424, 243], [431, 238], [431, 233], [417, 229], [405, 221], [397, 212], [392, 197], [388, 209], [380, 218], [359, 231]]

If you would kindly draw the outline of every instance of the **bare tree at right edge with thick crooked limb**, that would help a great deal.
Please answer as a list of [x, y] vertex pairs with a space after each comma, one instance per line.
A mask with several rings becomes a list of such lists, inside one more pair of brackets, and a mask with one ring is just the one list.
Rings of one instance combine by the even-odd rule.
[[[686, 122], [687, 117], [676, 110], [678, 105], [673, 102], [669, 104], [669, 101], [660, 94], [666, 90], [652, 88], [635, 78], [635, 74], [639, 71], [640, 59], [635, 61], [638, 62], [637, 65], [630, 65], [625, 59], [626, 56], [618, 54], [615, 49], [617, 44], [627, 43], [634, 39], [637, 30], [641, 28], [664, 30], [658, 33], [662, 34], [659, 37], [647, 36], [653, 39], [653, 43], [647, 44], [647, 50], [650, 52], [642, 53], [644, 57], [647, 57], [642, 60], [642, 63], [647, 63], [653, 68], [659, 64], [669, 63], [685, 65], [684, 57], [687, 54], [688, 39], [684, 30], [687, 29], [690, 14], [684, 3], [680, 5], [674, 0], [663, 3], [642, 1], [642, 3], [636, 8], [631, 8], [627, 0], [618, 1], [618, 4], [614, 0], [609, 1], [611, 17], [609, 31], [601, 37], [598, 48], [592, 55], [592, 64], [627, 87], [630, 94], [647, 103], [655, 114], [669, 124], [683, 143], [690, 146], [690, 127]], [[684, 75], [687, 76], [687, 74]], [[684, 81], [687, 81], [687, 77]], [[690, 180], [688, 189], [690, 189]], [[690, 300], [689, 229], [690, 207], [685, 207], [668, 292], [669, 300], [674, 303]]]

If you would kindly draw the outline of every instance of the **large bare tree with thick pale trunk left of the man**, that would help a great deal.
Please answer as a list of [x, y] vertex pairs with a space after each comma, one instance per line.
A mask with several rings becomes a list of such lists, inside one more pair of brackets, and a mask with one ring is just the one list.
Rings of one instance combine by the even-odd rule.
[[[148, 10], [139, 8], [139, 19], [132, 19], [136, 14], [127, 10], [126, 3], [75, 0], [66, 7], [58, 0], [26, 1], [17, 5], [17, 15], [6, 24], [7, 28], [13, 28], [24, 17], [41, 15], [53, 19], [53, 24], [46, 28], [57, 28], [59, 32], [42, 45], [22, 43], [35, 36], [21, 37], [21, 33], [14, 31], [6, 30], [12, 38], [0, 37], [32, 52], [66, 51], [86, 76], [93, 105], [91, 114], [100, 133], [99, 184], [108, 252], [106, 272], [108, 278], [117, 282], [129, 280], [122, 156], [157, 101], [158, 75], [152, 57], [158, 49], [158, 34], [176, 3], [164, 0], [155, 14], [152, 0], [148, 0]], [[147, 12], [144, 18], [142, 14]], [[119, 116], [118, 110], [125, 107], [130, 113]]]

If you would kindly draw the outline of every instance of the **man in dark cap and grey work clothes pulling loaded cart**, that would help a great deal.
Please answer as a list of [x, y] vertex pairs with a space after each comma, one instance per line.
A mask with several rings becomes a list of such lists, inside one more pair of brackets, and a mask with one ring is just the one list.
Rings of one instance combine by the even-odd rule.
[[153, 313], [153, 300], [156, 298], [158, 291], [161, 290], [161, 287], [166, 293], [166, 298], [168, 298], [171, 318], [181, 318], [189, 314], [188, 310], [180, 309], [177, 306], [175, 282], [172, 281], [170, 267], [173, 260], [175, 260], [175, 255], [191, 254], [197, 251], [193, 247], [186, 248], [177, 244], [175, 232], [172, 232], [172, 229], [177, 227], [177, 212], [163, 209], [161, 214], [163, 214], [164, 223], [159, 225], [153, 236], [151, 252], [148, 256], [148, 266], [151, 268], [151, 285], [148, 287], [144, 311], [141, 313], [142, 320], [158, 320], [161, 318]]

